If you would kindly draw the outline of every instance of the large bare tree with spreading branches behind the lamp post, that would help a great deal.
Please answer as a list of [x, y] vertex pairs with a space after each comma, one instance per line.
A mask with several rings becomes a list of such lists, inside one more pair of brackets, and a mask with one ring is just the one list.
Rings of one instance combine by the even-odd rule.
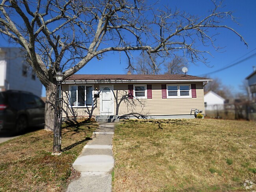
[[234, 32], [246, 44], [222, 24], [226, 19], [236, 22], [233, 12], [221, 11], [222, 2], [212, 1], [212, 7], [202, 18], [171, 7], [154, 10], [144, 0], [2, 0], [0, 33], [26, 52], [45, 86], [45, 129], [52, 130], [58, 70], [67, 79], [94, 57], [113, 51], [123, 51], [130, 59], [136, 50], [149, 56], [180, 50], [191, 62], [205, 62], [210, 53], [198, 50], [198, 44], [218, 50], [218, 28]]

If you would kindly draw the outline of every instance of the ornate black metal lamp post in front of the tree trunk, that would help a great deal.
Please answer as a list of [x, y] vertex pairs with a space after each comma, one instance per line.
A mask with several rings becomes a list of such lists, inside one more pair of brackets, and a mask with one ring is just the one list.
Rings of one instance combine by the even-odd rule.
[[54, 118], [54, 136], [53, 153], [61, 153], [61, 124], [62, 124], [62, 90], [61, 82], [64, 79], [63, 74], [58, 71], [54, 76], [57, 80], [56, 99], [55, 99], [55, 118]]

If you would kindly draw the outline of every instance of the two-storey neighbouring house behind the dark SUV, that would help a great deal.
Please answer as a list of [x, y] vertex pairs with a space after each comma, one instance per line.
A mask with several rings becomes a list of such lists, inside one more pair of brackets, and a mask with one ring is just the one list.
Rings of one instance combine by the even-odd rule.
[[20, 48], [0, 48], [0, 91], [23, 90], [40, 97], [42, 86]]

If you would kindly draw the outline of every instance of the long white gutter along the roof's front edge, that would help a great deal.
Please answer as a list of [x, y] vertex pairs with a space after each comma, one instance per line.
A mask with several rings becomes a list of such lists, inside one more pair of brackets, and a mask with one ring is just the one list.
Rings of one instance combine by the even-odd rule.
[[[180, 79], [180, 80], [65, 80], [62, 84], [91, 84], [91, 83], [179, 83], [179, 82], [207, 82], [211, 79]], [[207, 84], [206, 83], [206, 84]]]

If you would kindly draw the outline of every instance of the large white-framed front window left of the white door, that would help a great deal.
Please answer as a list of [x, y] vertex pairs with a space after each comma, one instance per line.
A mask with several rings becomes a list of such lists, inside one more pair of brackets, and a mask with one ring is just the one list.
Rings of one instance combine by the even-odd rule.
[[70, 86], [70, 105], [71, 106], [92, 106], [93, 105], [93, 86], [78, 85]]

